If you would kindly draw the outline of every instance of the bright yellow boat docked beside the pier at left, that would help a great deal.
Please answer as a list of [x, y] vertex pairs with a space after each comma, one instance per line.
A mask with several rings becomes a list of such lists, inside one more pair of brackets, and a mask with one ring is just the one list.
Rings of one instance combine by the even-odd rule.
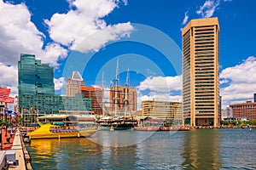
[[50, 123], [42, 124], [33, 132], [26, 133], [30, 139], [60, 139], [60, 138], [79, 138], [90, 137], [96, 133], [96, 127], [87, 127], [84, 129], [63, 129], [60, 126]]

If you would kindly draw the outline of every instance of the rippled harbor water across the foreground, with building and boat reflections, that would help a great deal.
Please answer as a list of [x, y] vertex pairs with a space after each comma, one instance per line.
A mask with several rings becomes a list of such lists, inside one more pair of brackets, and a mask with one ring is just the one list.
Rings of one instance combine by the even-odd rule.
[[33, 169], [256, 169], [256, 130], [98, 131], [91, 138], [34, 139]]

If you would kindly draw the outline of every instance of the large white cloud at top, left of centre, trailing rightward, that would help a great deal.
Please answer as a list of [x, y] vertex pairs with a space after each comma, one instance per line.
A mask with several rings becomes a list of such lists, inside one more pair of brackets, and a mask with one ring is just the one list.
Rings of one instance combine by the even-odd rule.
[[[107, 26], [106, 21], [102, 20], [118, 4], [118, 0], [71, 1], [70, 5], [74, 8], [67, 14], [54, 14], [44, 22], [49, 26], [49, 36], [55, 42], [82, 52], [97, 51], [109, 41], [129, 36], [133, 30], [130, 22]], [[84, 41], [86, 38], [88, 40]]]

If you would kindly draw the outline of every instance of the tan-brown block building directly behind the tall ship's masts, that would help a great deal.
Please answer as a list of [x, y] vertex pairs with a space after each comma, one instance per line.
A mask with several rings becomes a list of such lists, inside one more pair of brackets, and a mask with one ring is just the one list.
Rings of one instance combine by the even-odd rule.
[[125, 96], [125, 86], [113, 86], [110, 88], [110, 111], [125, 111], [125, 99], [128, 100], [128, 111], [137, 111], [137, 88], [128, 87], [128, 95]]

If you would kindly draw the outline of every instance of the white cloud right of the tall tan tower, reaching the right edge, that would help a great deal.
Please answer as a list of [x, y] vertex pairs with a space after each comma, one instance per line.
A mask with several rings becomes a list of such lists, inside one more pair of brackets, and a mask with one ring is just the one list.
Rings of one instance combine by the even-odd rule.
[[248, 57], [240, 65], [221, 71], [220, 82], [228, 86], [220, 89], [224, 107], [230, 104], [244, 103], [253, 100], [256, 93], [256, 58]]

